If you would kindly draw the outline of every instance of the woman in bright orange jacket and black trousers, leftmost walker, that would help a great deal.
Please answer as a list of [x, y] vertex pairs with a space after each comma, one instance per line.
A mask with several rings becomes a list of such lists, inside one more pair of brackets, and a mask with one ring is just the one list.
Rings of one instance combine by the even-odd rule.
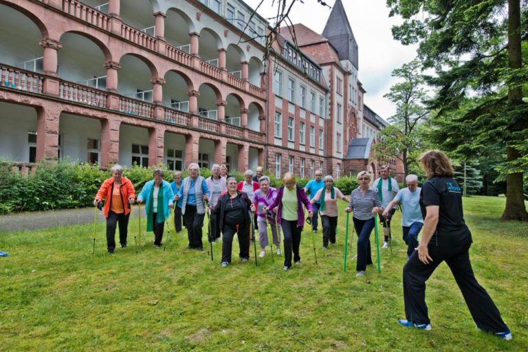
[[99, 188], [94, 206], [106, 199], [102, 213], [107, 218], [107, 250], [115, 250], [115, 228], [119, 224], [119, 241], [121, 248], [126, 248], [127, 228], [129, 225], [130, 206], [134, 203], [135, 189], [132, 182], [123, 176], [123, 168], [114, 165], [111, 168], [112, 177], [104, 180]]

